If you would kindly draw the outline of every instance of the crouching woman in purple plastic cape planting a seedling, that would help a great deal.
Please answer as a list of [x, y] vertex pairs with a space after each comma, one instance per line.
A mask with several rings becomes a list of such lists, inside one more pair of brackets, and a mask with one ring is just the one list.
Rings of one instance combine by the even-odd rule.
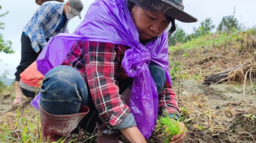
[[[68, 140], [86, 128], [94, 112], [87, 132], [99, 122], [102, 135], [96, 142], [119, 142], [119, 133], [130, 142], [146, 142], [157, 115], [179, 120], [167, 41], [175, 19], [197, 21], [183, 9], [182, 0], [96, 0], [73, 34], [53, 37], [37, 60], [46, 74], [39, 107], [42, 137]], [[59, 52], [60, 46], [67, 51]], [[185, 138], [186, 127], [178, 125], [184, 132], [170, 142]]]

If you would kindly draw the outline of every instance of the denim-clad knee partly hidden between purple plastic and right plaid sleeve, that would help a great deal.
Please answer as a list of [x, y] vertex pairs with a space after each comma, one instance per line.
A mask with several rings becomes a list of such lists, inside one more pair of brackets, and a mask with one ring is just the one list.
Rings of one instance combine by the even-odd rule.
[[157, 94], [159, 95], [163, 90], [164, 84], [166, 83], [166, 72], [162, 67], [153, 62], [149, 64], [149, 71], [156, 83]]

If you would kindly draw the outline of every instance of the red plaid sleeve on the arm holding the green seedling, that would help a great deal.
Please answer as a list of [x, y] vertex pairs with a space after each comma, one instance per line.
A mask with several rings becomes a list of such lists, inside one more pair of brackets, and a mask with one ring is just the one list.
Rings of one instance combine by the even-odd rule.
[[163, 115], [163, 113], [169, 113], [180, 116], [181, 111], [178, 107], [178, 102], [176, 101], [176, 95], [168, 82], [164, 85], [159, 96], [159, 112], [161, 115]]

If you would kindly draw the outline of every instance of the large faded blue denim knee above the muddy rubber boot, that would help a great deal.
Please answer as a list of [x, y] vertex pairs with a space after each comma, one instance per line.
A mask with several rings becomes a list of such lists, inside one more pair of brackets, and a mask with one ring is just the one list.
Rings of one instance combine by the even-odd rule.
[[87, 105], [86, 82], [75, 68], [69, 66], [50, 70], [42, 81], [40, 92], [40, 105], [51, 114], [75, 114], [81, 105]]

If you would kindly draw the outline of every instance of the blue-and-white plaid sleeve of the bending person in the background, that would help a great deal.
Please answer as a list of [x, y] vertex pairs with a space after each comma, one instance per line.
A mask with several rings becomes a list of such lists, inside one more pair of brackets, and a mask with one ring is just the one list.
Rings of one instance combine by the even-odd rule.
[[51, 4], [43, 4], [38, 12], [38, 16], [35, 19], [35, 36], [38, 44], [41, 45], [42, 48], [46, 45], [46, 40], [44, 36], [44, 30], [42, 26], [49, 20], [48, 17], [52, 14], [54, 8]]

